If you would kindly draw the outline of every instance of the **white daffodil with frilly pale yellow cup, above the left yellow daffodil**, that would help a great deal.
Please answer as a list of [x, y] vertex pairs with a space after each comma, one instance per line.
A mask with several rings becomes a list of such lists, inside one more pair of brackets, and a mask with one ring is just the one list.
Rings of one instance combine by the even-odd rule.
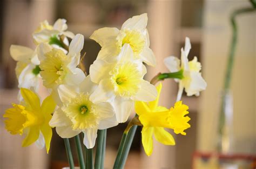
[[71, 41], [69, 53], [52, 48], [49, 44], [41, 43], [38, 47], [40, 75], [43, 85], [47, 88], [56, 88], [60, 84], [75, 85], [84, 79], [82, 70], [77, 68], [80, 61], [80, 51], [83, 49], [84, 36], [77, 34]]

